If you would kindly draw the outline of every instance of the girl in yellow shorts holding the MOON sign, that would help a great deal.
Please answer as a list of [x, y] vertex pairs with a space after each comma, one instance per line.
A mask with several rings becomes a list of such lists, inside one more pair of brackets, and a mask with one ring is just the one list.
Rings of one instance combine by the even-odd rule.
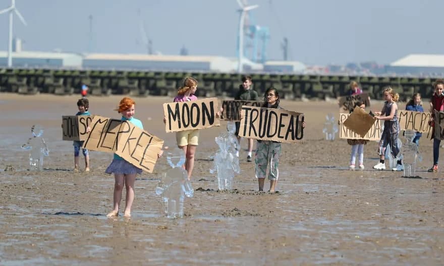
[[[182, 87], [177, 91], [177, 96], [174, 102], [188, 102], [197, 100], [196, 93], [197, 80], [186, 77], [182, 81]], [[165, 121], [165, 118], [163, 118]], [[199, 145], [199, 129], [190, 129], [176, 132], [177, 146], [182, 149], [186, 156], [185, 170], [188, 173], [188, 180], [191, 178], [191, 173], [194, 167], [194, 154], [196, 153], [197, 145]]]

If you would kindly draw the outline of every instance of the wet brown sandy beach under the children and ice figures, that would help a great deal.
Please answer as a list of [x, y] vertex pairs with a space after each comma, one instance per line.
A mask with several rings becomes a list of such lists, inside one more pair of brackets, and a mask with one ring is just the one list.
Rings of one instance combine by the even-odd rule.
[[[88, 97], [90, 112], [120, 118], [113, 109], [123, 96]], [[0, 94], [0, 264], [2, 265], [441, 265], [444, 260], [444, 168], [428, 173], [432, 142], [422, 137], [420, 178], [376, 171], [377, 142], [364, 148], [365, 170], [348, 169], [346, 140], [323, 140], [325, 115], [338, 119], [336, 102], [286, 101], [305, 113], [303, 144], [283, 144], [277, 193], [257, 191], [254, 163], [241, 151], [241, 174], [233, 191], [217, 191], [211, 156], [214, 137], [203, 129], [196, 152], [185, 217], [164, 217], [154, 173], [138, 175], [131, 219], [112, 209], [114, 176], [104, 173], [112, 154], [90, 152], [91, 172], [73, 171], [73, 146], [62, 141], [62, 115], [74, 115], [79, 96]], [[151, 134], [165, 133], [166, 97], [134, 98], [135, 117]], [[373, 102], [372, 102], [373, 104]], [[399, 104], [400, 109], [405, 103]], [[379, 111], [381, 102], [371, 110]], [[368, 109], [367, 109], [368, 111]], [[20, 148], [41, 124], [50, 150], [43, 171], [29, 171]], [[402, 136], [400, 135], [402, 138]], [[246, 142], [242, 142], [246, 148]], [[442, 149], [441, 149], [442, 154]], [[441, 155], [442, 157], [442, 155]], [[441, 161], [443, 159], [441, 158]], [[83, 156], [80, 158], [84, 168]], [[386, 164], [387, 165], [387, 164]], [[5, 168], [13, 171], [4, 171]], [[269, 182], [265, 181], [265, 189]]]

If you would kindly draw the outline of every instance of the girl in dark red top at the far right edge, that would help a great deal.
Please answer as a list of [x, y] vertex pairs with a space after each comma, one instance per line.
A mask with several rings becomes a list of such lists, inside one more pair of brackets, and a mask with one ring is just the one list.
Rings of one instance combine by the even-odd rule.
[[[442, 94], [444, 91], [444, 81], [443, 80], [437, 80], [433, 84], [433, 88], [435, 89], [435, 92], [432, 95], [432, 98], [430, 99], [430, 113], [432, 114], [432, 126], [433, 130], [432, 132], [435, 132], [435, 123], [434, 123], [434, 111], [442, 112], [444, 111], [444, 95]], [[442, 130], [442, 128], [441, 128]], [[440, 138], [436, 138], [433, 134], [433, 166], [428, 169], [428, 172], [437, 172], [438, 171], [438, 160], [439, 160], [439, 144], [441, 143]]]

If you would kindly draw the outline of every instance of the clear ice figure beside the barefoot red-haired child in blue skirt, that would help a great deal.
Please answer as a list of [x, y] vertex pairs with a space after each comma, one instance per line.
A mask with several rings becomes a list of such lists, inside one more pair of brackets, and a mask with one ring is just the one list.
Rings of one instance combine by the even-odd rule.
[[179, 148], [166, 152], [167, 161], [172, 167], [160, 174], [160, 181], [156, 187], [156, 194], [161, 195], [165, 202], [165, 214], [168, 218], [182, 218], [184, 216], [184, 198], [192, 197], [193, 187], [188, 180], [187, 171], [182, 168], [185, 163], [185, 154]]

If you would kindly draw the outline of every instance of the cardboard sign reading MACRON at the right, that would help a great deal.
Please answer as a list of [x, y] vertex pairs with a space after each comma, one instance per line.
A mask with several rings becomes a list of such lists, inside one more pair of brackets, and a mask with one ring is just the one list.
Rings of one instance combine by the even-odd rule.
[[399, 111], [399, 127], [401, 130], [415, 130], [418, 132], [426, 132], [429, 135], [431, 126], [429, 121], [431, 113], [414, 112], [414, 111]]

